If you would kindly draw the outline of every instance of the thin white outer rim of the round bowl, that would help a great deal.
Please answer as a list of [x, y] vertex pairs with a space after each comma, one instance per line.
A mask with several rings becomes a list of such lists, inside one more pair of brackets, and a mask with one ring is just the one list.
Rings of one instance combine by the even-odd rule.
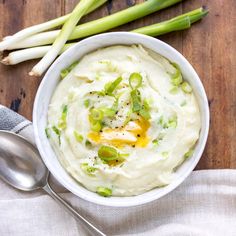
[[[101, 40], [101, 39], [105, 39], [105, 38], [109, 38], [110, 36], [126, 36], [126, 37], [135, 37], [135, 38], [139, 38], [142, 40], [149, 40], [150, 42], [159, 45], [161, 47], [166, 48], [167, 50], [173, 52], [176, 54], [176, 56], [178, 56], [179, 58], [181, 58], [181, 60], [184, 62], [185, 65], [187, 65], [189, 67], [189, 70], [191, 71], [191, 73], [194, 75], [194, 77], [197, 79], [196, 83], [198, 84], [198, 88], [200, 90], [200, 94], [201, 94], [201, 98], [203, 100], [203, 110], [204, 110], [204, 125], [205, 125], [205, 129], [201, 132], [203, 132], [202, 138], [201, 138], [201, 145], [199, 147], [199, 150], [197, 153], [195, 153], [194, 156], [194, 161], [192, 161], [191, 166], [188, 167], [187, 171], [183, 174], [181, 174], [181, 177], [179, 177], [177, 180], [175, 180], [174, 182], [170, 183], [169, 185], [165, 186], [163, 188], [163, 191], [159, 194], [157, 194], [157, 196], [155, 195], [151, 195], [148, 198], [143, 198], [142, 201], [132, 201], [132, 199], [134, 200], [136, 196], [130, 196], [130, 197], [111, 197], [111, 198], [122, 198], [122, 199], [128, 199], [128, 201], [123, 201], [121, 202], [111, 202], [109, 201], [109, 198], [104, 198], [104, 197], [92, 197], [92, 196], [87, 196], [86, 194], [82, 194], [81, 192], [79, 193], [79, 191], [76, 191], [74, 188], [72, 188], [70, 186], [69, 183], [67, 183], [67, 181], [65, 181], [58, 173], [55, 169], [53, 169], [53, 167], [50, 165], [49, 161], [47, 160], [47, 154], [46, 151], [44, 150], [45, 147], [43, 145], [42, 140], [40, 139], [40, 135], [39, 135], [39, 127], [38, 127], [38, 107], [40, 105], [40, 95], [43, 92], [43, 88], [45, 86], [45, 84], [47, 84], [47, 81], [49, 80], [49, 75], [51, 74], [51, 72], [54, 70], [54, 67], [60, 63], [62, 60], [65, 60], [65, 58], [67, 58], [72, 51], [74, 51], [75, 49], [79, 48], [82, 44], [88, 44], [88, 43], [94, 43], [97, 40]], [[135, 44], [135, 43], [134, 43]], [[114, 44], [115, 45], [115, 44]], [[118, 45], [118, 43], [116, 44]], [[120, 42], [120, 45], [122, 45], [122, 42]], [[108, 44], [109, 46], [109, 44]], [[97, 49], [99, 49], [101, 47], [97, 47]], [[94, 51], [94, 50], [92, 50]], [[83, 55], [84, 56], [84, 55]], [[81, 57], [83, 57], [81, 56]], [[80, 58], [81, 58], [80, 57]], [[53, 93], [53, 92], [52, 92]], [[52, 93], [50, 93], [50, 96], [52, 96]], [[200, 107], [200, 105], [199, 105]], [[201, 121], [202, 123], [203, 121]], [[210, 122], [210, 112], [209, 112], [209, 106], [208, 106], [208, 99], [207, 99], [207, 95], [205, 92], [205, 89], [203, 87], [203, 84], [198, 76], [198, 74], [196, 73], [196, 71], [194, 70], [194, 68], [192, 67], [192, 65], [187, 61], [187, 59], [180, 53], [178, 52], [175, 48], [173, 48], [172, 46], [170, 46], [169, 44], [150, 37], [150, 36], [146, 36], [146, 35], [141, 35], [141, 34], [137, 34], [137, 33], [131, 33], [131, 32], [110, 32], [110, 33], [103, 33], [103, 34], [99, 34], [99, 35], [95, 35], [89, 38], [86, 38], [84, 40], [81, 40], [80, 42], [76, 43], [74, 46], [72, 46], [71, 48], [69, 48], [66, 52], [64, 52], [62, 55], [60, 55], [55, 62], [50, 66], [50, 68], [48, 69], [47, 73], [44, 75], [44, 78], [42, 79], [40, 86], [37, 90], [37, 94], [34, 100], [34, 106], [33, 106], [33, 129], [34, 129], [34, 135], [35, 135], [35, 141], [36, 141], [36, 145], [37, 148], [41, 154], [42, 160], [44, 161], [45, 165], [47, 166], [47, 168], [49, 169], [50, 173], [57, 179], [57, 181], [62, 184], [67, 190], [69, 190], [70, 192], [72, 192], [73, 194], [75, 194], [76, 196], [95, 203], [95, 204], [99, 204], [99, 205], [104, 205], [104, 206], [111, 206], [111, 207], [131, 207], [131, 206], [137, 206], [137, 205], [142, 205], [145, 203], [149, 203], [152, 202], [154, 200], [157, 200], [161, 197], [163, 197], [164, 195], [168, 194], [169, 192], [171, 192], [172, 190], [174, 190], [176, 187], [178, 187], [189, 175], [190, 173], [194, 170], [194, 168], [196, 167], [197, 163], [199, 162], [202, 153], [204, 151], [204, 148], [206, 146], [206, 142], [207, 142], [207, 137], [208, 137], [208, 132], [209, 132], [209, 122]], [[200, 140], [200, 137], [199, 137]], [[199, 141], [198, 140], [198, 141]], [[191, 157], [193, 158], [193, 156]], [[58, 160], [59, 162], [59, 160]], [[72, 178], [72, 177], [71, 177]], [[83, 187], [84, 188], [84, 187]], [[85, 188], [84, 188], [85, 189]], [[155, 191], [157, 188], [149, 190], [149, 191]], [[87, 189], [86, 189], [87, 190]], [[89, 191], [89, 190], [87, 190]], [[148, 192], [149, 192], [148, 191]], [[91, 191], [89, 191], [91, 192]], [[142, 194], [141, 194], [142, 195]], [[141, 196], [138, 195], [138, 196]]]

